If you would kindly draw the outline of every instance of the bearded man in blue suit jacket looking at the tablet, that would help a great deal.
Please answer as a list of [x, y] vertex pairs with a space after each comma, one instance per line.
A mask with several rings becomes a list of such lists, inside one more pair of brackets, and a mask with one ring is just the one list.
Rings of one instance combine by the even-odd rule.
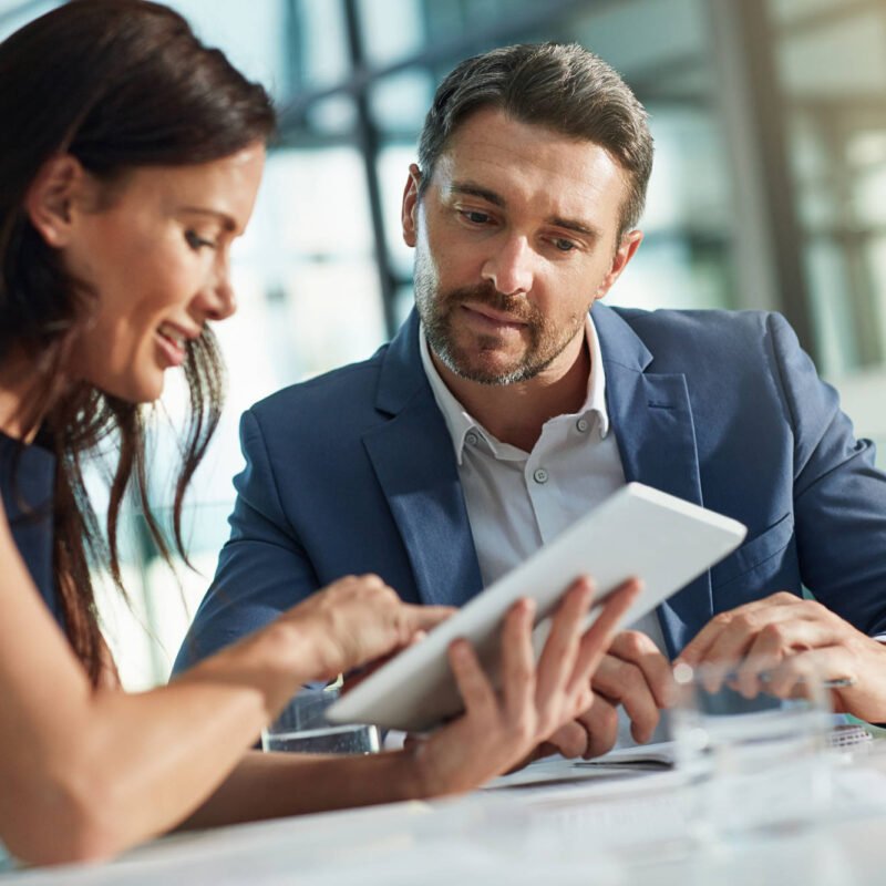
[[[668, 659], [717, 612], [763, 600], [692, 661], [752, 646], [784, 608], [765, 598], [802, 585], [853, 637], [886, 630], [886, 478], [784, 320], [599, 303], [642, 239], [652, 162], [618, 75], [577, 45], [471, 59], [419, 158], [402, 205], [416, 310], [372, 359], [245, 414], [230, 540], [177, 667], [346, 573], [462, 604], [635, 480], [748, 542], [616, 640], [564, 753], [611, 746], [619, 705], [648, 740]], [[770, 657], [793, 649], [771, 640]]]

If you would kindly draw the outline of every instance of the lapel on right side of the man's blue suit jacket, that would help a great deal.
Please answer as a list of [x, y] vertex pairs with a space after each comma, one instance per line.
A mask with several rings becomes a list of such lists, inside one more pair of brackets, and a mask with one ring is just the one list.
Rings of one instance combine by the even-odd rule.
[[[594, 322], [606, 368], [607, 409], [625, 478], [703, 505], [686, 377], [646, 372], [652, 354], [611, 309], [595, 306]], [[663, 602], [658, 614], [674, 656], [713, 615], [710, 574]]]

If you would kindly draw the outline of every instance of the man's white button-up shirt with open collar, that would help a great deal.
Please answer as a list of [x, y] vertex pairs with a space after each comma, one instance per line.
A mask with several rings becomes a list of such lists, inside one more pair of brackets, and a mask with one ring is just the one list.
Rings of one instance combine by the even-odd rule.
[[[440, 377], [422, 330], [422, 365], [455, 449], [484, 587], [625, 485], [621, 456], [606, 410], [600, 342], [590, 315], [585, 334], [590, 353], [585, 403], [574, 414], [545, 422], [542, 435], [527, 453], [502, 443], [465, 411]], [[630, 627], [649, 635], [664, 651], [655, 612]], [[618, 746], [633, 744], [630, 723], [621, 709], [619, 718]], [[653, 740], [660, 738], [657, 733]]]

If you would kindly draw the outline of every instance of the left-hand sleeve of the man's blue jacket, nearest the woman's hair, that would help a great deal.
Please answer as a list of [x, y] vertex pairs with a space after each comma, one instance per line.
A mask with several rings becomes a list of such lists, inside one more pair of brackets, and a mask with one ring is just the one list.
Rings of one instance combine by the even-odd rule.
[[284, 513], [261, 427], [251, 411], [240, 421], [240, 446], [246, 467], [234, 478], [237, 499], [228, 518], [230, 537], [173, 673], [264, 627], [319, 586]]

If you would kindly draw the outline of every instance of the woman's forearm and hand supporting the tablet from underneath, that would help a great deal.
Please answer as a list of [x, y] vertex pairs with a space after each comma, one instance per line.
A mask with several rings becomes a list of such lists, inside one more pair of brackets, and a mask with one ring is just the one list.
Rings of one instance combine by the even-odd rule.
[[564, 598], [538, 663], [533, 606], [516, 604], [503, 626], [502, 688], [495, 692], [470, 645], [455, 641], [450, 664], [465, 713], [430, 738], [368, 756], [247, 754], [218, 791], [184, 823], [207, 827], [344, 806], [473, 790], [508, 771], [590, 704], [590, 677], [637, 590], [628, 583], [581, 632], [591, 593], [577, 581]]

